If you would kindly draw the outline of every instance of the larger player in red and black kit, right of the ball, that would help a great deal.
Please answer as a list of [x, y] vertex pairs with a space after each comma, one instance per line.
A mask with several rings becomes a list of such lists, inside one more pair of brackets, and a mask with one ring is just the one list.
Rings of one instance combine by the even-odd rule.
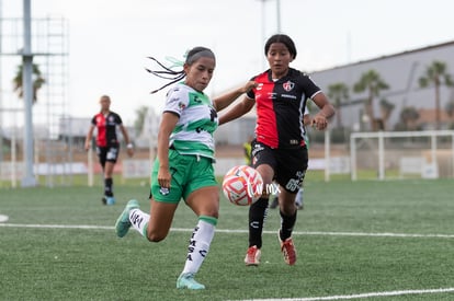
[[291, 37], [271, 36], [264, 46], [270, 69], [252, 78], [257, 88], [225, 115], [219, 125], [236, 119], [257, 104], [256, 140], [252, 143], [252, 164], [262, 175], [264, 193], [249, 209], [249, 248], [245, 258], [248, 266], [260, 264], [263, 221], [266, 216], [269, 194], [273, 180], [279, 184], [281, 229], [279, 239], [284, 261], [296, 262], [292, 231], [296, 222], [295, 196], [307, 170], [307, 148], [304, 140], [303, 116], [310, 99], [318, 107], [311, 120], [319, 130], [327, 128], [334, 108], [326, 95], [305, 73], [290, 63], [296, 57]]

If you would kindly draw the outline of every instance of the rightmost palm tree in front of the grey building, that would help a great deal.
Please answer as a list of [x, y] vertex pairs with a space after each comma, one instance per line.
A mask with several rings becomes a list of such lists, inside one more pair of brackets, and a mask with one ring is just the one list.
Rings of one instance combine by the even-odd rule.
[[453, 86], [454, 83], [451, 79], [451, 74], [447, 73], [446, 63], [442, 61], [433, 61], [425, 69], [425, 74], [419, 79], [419, 85], [427, 88], [432, 85], [435, 88], [435, 127], [440, 129], [440, 85], [445, 84]]

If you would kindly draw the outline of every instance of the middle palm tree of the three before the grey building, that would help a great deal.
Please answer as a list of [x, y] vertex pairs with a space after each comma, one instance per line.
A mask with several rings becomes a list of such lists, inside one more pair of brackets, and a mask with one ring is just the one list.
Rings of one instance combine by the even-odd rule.
[[354, 92], [367, 92], [365, 113], [371, 121], [372, 130], [377, 129], [377, 124], [374, 117], [374, 99], [379, 96], [382, 90], [386, 89], [389, 89], [389, 85], [381, 78], [377, 71], [372, 69], [364, 72], [360, 80], [353, 85]]

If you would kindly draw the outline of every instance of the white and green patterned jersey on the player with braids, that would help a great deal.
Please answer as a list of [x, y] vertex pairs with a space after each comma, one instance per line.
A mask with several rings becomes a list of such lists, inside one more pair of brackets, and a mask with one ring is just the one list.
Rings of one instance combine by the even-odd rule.
[[179, 153], [214, 159], [213, 134], [218, 126], [218, 119], [207, 95], [178, 83], [168, 92], [163, 112], [172, 112], [180, 117], [170, 135], [170, 144]]

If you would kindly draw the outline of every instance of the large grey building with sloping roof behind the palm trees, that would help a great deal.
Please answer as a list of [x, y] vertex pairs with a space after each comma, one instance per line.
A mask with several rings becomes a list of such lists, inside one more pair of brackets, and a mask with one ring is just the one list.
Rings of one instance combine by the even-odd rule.
[[[434, 129], [435, 89], [433, 85], [427, 88], [420, 85], [420, 78], [425, 76], [427, 69], [434, 61], [444, 63], [446, 73], [454, 79], [454, 42], [315, 71], [310, 76], [327, 94], [330, 92], [330, 85], [337, 83], [343, 83], [349, 89], [349, 97], [341, 102], [333, 125], [337, 125], [338, 119], [341, 118], [342, 126], [353, 131], [371, 130], [368, 116], [365, 114], [367, 91], [356, 93], [353, 86], [362, 74], [374, 70], [388, 85], [388, 89], [382, 90], [373, 102], [374, 118], [379, 120], [379, 129], [399, 129], [399, 124], [402, 121], [401, 113], [408, 108], [415, 109], [423, 118], [415, 120], [420, 129]], [[330, 101], [333, 102], [332, 99]], [[384, 116], [386, 114], [383, 112], [383, 102], [391, 107], [388, 116]], [[454, 123], [454, 116], [449, 116], [452, 113], [446, 112], [450, 103], [454, 103], [454, 90], [442, 84], [440, 86], [441, 129], [446, 129]]]

